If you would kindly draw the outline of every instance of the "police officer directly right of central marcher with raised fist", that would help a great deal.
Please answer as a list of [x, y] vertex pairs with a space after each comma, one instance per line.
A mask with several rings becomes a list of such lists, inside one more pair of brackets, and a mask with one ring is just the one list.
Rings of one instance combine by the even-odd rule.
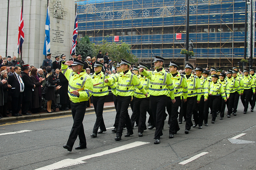
[[170, 128], [169, 128], [169, 138], [173, 138], [174, 134], [180, 130], [177, 117], [178, 117], [178, 109], [181, 106], [182, 96], [184, 102], [187, 101], [187, 82], [184, 76], [181, 76], [180, 73], [177, 72], [177, 69], [180, 65], [175, 63], [174, 61], [170, 62], [169, 71], [171, 74], [171, 79], [174, 87], [174, 97], [175, 103], [171, 102], [171, 98], [167, 98], [166, 109], [168, 111], [170, 117]]

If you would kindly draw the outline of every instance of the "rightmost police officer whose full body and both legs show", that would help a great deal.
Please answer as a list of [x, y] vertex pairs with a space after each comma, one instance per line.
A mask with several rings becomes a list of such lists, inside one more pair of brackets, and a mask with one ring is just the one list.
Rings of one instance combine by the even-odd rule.
[[254, 79], [249, 75], [249, 72], [249, 70], [244, 69], [244, 75], [242, 76], [242, 81], [244, 83], [244, 93], [241, 95], [241, 101], [244, 106], [244, 114], [247, 112], [249, 101], [252, 99], [253, 94], [255, 94]]

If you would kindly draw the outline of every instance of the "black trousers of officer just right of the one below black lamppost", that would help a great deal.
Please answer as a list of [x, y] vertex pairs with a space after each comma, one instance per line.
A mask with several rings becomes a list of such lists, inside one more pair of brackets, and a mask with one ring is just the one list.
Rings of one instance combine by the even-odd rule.
[[203, 125], [204, 120], [204, 96], [201, 96], [200, 103], [196, 103], [196, 108], [198, 108], [198, 111], [193, 111], [195, 124], [198, 124], [198, 126]]

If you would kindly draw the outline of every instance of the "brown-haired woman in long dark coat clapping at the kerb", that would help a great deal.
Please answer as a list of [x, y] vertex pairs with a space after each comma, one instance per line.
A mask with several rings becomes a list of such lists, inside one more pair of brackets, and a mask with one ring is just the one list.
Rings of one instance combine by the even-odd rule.
[[35, 88], [33, 91], [33, 100], [31, 111], [33, 114], [39, 113], [39, 109], [42, 106], [42, 91], [41, 91], [41, 82], [45, 80], [45, 78], [38, 77], [37, 68], [32, 68], [30, 72], [30, 77], [33, 80], [33, 84], [35, 84]]

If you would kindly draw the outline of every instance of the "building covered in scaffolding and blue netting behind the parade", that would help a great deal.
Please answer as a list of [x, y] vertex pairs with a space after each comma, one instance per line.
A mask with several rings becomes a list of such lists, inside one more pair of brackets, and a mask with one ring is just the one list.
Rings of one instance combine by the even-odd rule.
[[[76, 2], [79, 37], [87, 35], [92, 43], [122, 40], [144, 63], [162, 56], [166, 67], [171, 60], [184, 64], [180, 52], [186, 40], [185, 0]], [[196, 66], [228, 69], [244, 58], [245, 6], [243, 0], [190, 0], [189, 40]]]

